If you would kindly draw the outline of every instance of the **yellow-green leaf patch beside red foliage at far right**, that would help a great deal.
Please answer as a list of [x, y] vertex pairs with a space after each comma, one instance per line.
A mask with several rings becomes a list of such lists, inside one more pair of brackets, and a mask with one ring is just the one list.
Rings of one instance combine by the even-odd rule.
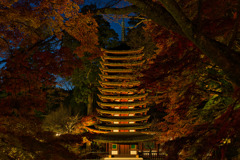
[[201, 90], [207, 93], [206, 103], [200, 110], [197, 110], [197, 113], [202, 121], [211, 122], [222, 115], [234, 102], [230, 96], [233, 93], [233, 86], [217, 66], [207, 65], [206, 68], [206, 70], [201, 70], [199, 81]]

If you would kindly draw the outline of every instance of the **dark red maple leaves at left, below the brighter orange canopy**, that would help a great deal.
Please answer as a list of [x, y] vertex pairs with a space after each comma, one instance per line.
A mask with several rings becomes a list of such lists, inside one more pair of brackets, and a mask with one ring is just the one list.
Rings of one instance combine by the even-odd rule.
[[43, 109], [47, 88], [56, 85], [55, 75], [69, 76], [81, 66], [79, 59], [64, 47], [56, 53], [46, 51], [32, 55], [16, 51], [12, 56], [1, 70], [1, 91], [9, 96], [0, 104], [24, 112], [25, 109]]

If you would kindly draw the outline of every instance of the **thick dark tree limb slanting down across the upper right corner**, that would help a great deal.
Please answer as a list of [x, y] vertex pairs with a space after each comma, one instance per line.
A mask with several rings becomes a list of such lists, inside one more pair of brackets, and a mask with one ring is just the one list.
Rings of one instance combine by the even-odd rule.
[[196, 26], [186, 17], [175, 0], [159, 0], [171, 13], [176, 22], [182, 28], [186, 37], [191, 40], [204, 54], [218, 65], [231, 81], [240, 86], [240, 57], [237, 52], [226, 45], [207, 38], [197, 32]]

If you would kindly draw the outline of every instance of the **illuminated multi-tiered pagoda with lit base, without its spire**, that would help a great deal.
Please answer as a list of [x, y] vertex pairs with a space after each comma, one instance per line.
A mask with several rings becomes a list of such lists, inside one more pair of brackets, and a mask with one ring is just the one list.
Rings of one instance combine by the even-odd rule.
[[145, 62], [142, 51], [103, 49], [95, 127], [105, 132], [96, 141], [106, 143], [110, 157], [138, 157], [141, 143], [153, 139], [144, 133], [150, 126], [147, 93], [138, 89], [141, 75], [136, 68]]

